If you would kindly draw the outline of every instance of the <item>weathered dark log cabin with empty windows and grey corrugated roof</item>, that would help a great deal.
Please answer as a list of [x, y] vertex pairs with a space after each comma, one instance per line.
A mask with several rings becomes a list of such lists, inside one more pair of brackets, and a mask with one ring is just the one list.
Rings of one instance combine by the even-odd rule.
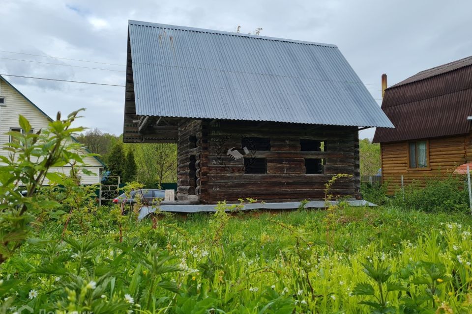
[[359, 127], [392, 127], [334, 45], [130, 21], [123, 141], [177, 143], [177, 200], [360, 197]]

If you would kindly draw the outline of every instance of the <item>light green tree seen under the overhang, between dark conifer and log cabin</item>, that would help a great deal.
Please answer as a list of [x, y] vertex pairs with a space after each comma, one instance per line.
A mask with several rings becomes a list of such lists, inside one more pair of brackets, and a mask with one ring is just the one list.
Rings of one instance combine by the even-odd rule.
[[177, 182], [176, 144], [136, 144], [138, 181], [150, 184]]

